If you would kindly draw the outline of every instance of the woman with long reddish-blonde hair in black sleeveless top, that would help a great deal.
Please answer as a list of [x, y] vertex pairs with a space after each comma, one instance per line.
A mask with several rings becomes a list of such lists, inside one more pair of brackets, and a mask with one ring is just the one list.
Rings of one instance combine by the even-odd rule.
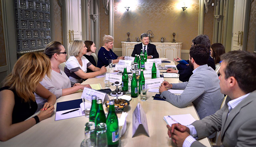
[[[52, 115], [56, 96], [39, 83], [45, 75], [51, 75], [48, 57], [42, 53], [27, 53], [5, 77], [4, 87], [0, 88], [0, 141], [7, 141]], [[37, 111], [33, 92], [48, 102], [38, 115], [28, 119]]]

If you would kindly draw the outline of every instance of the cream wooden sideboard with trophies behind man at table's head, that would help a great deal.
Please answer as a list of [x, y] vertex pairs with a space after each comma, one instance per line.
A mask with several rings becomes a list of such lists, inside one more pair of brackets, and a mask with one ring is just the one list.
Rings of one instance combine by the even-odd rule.
[[[122, 56], [131, 56], [134, 49], [134, 45], [141, 42], [121, 42], [122, 44]], [[156, 45], [156, 50], [159, 54], [159, 58], [168, 58], [173, 61], [173, 58], [181, 57], [182, 43], [171, 43], [171, 42], [152, 42]]]

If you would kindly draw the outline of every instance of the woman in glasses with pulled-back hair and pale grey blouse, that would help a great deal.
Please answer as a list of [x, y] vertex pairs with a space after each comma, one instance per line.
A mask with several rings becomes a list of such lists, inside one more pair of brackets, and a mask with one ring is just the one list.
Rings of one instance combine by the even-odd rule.
[[[44, 54], [48, 56], [51, 61], [52, 72], [51, 77], [47, 75], [40, 82], [46, 89], [56, 95], [56, 98], [60, 98], [61, 96], [68, 95], [76, 92], [79, 89], [84, 89], [84, 87], [90, 87], [90, 85], [81, 85], [80, 83], [75, 84], [71, 87], [70, 79], [65, 74], [64, 69], [60, 65], [60, 63], [66, 62], [66, 50], [64, 46], [57, 41], [50, 42], [44, 50]], [[46, 99], [40, 97], [35, 93], [35, 100], [38, 104], [39, 111], [44, 103], [47, 101]]]

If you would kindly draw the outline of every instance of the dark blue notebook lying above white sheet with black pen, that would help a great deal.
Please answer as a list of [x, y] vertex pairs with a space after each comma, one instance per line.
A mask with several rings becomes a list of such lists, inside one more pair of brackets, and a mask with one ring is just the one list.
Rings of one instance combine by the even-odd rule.
[[71, 100], [66, 102], [59, 102], [56, 106], [56, 112], [69, 109], [80, 108], [80, 104], [83, 103], [82, 99]]

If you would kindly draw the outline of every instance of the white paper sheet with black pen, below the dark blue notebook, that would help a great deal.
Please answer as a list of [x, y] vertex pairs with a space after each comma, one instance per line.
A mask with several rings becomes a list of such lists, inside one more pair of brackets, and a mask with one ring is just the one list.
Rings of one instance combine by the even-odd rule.
[[[67, 113], [67, 114], [63, 114], [65, 112], [69, 112], [72, 111], [74, 109], [69, 109], [69, 110], [64, 110], [64, 111], [58, 111], [56, 112], [56, 116], [55, 116], [55, 121], [57, 120], [62, 120], [62, 119], [68, 119], [68, 118], [73, 118], [73, 117], [79, 117], [79, 116], [84, 116], [84, 108], [88, 108], [91, 107], [90, 103], [85, 102], [85, 106], [83, 105], [83, 103], [80, 104], [80, 109], [71, 113]], [[75, 108], [77, 109], [77, 108]], [[63, 115], [61, 115], [63, 114]]]

